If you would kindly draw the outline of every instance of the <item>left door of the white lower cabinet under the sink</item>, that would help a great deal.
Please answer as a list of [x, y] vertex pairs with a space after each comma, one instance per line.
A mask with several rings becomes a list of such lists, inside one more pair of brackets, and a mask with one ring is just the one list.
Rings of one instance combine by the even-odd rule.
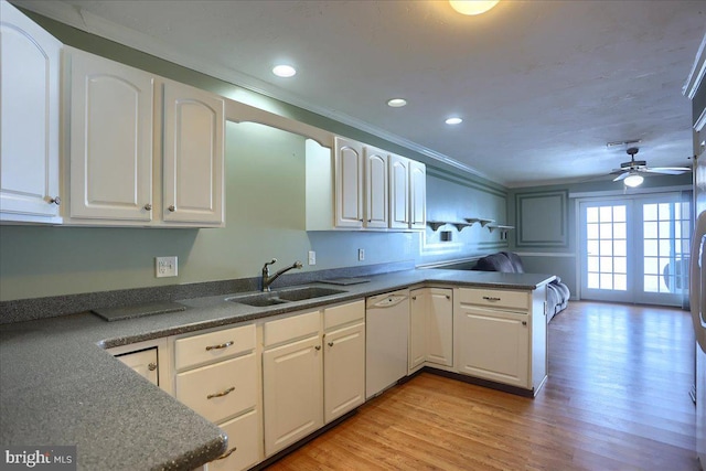
[[322, 360], [318, 335], [263, 352], [267, 457], [323, 426]]

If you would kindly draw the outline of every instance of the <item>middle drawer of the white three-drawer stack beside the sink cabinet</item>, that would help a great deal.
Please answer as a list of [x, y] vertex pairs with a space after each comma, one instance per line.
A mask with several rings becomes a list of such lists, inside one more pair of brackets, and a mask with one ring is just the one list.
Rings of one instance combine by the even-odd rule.
[[212, 422], [257, 403], [255, 353], [176, 375], [176, 398]]

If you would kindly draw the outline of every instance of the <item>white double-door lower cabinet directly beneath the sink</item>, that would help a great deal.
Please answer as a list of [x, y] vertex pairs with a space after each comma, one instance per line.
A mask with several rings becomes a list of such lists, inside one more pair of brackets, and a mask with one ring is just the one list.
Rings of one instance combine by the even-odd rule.
[[263, 325], [265, 456], [296, 443], [365, 400], [365, 302]]

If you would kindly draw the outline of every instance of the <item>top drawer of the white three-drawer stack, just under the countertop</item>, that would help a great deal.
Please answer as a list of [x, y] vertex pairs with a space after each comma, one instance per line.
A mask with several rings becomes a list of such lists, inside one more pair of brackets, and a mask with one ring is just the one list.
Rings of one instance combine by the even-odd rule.
[[176, 371], [228, 358], [255, 349], [255, 324], [223, 329], [174, 342]]

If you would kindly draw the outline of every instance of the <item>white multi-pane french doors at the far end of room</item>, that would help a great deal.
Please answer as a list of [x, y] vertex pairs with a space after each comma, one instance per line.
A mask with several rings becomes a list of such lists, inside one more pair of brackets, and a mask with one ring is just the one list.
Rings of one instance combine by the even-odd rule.
[[581, 201], [581, 298], [682, 306], [689, 211], [680, 193]]

